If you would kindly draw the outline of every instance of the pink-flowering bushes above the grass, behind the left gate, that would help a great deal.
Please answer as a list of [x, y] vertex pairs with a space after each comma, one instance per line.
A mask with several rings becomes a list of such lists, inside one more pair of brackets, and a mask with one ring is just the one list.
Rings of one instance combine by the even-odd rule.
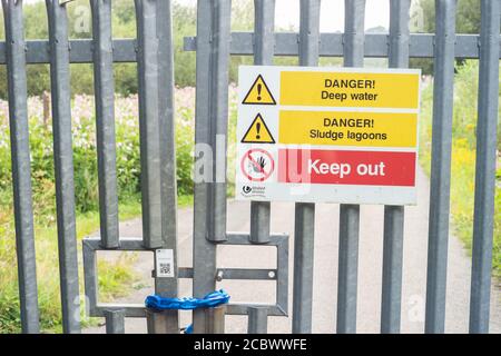
[[[177, 165], [178, 190], [189, 195], [193, 191], [190, 169], [194, 141], [195, 89], [176, 90], [177, 107]], [[33, 195], [42, 198], [53, 192], [52, 125], [43, 122], [41, 99], [29, 99], [30, 148]], [[8, 108], [0, 102], [0, 165], [10, 167], [10, 146], [8, 128]], [[72, 100], [75, 195], [79, 212], [96, 210], [98, 207], [98, 178], [96, 154], [96, 119], [94, 97], [76, 96]], [[139, 122], [137, 96], [116, 98], [116, 140], [118, 191], [121, 200], [140, 192]], [[10, 169], [0, 171], [0, 189], [9, 190]], [[46, 209], [42, 209], [46, 210]]]

